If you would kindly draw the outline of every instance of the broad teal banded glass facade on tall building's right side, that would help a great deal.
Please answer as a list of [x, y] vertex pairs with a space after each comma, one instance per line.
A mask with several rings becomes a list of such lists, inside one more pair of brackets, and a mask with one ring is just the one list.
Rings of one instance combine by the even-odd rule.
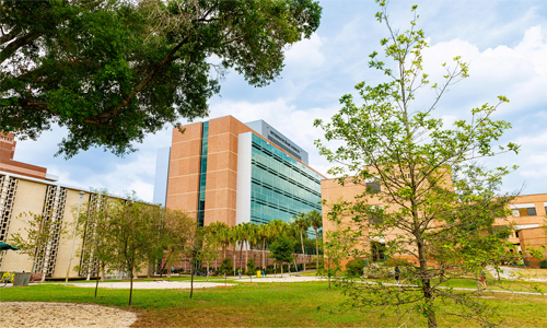
[[321, 213], [321, 176], [255, 134], [251, 175], [251, 222]]

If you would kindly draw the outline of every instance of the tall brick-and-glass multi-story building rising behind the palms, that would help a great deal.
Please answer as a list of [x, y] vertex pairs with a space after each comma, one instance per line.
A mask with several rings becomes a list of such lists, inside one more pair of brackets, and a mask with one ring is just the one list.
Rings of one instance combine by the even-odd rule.
[[289, 221], [321, 212], [323, 178], [264, 120], [225, 116], [173, 129], [172, 147], [158, 153], [154, 203], [188, 211], [199, 225]]

